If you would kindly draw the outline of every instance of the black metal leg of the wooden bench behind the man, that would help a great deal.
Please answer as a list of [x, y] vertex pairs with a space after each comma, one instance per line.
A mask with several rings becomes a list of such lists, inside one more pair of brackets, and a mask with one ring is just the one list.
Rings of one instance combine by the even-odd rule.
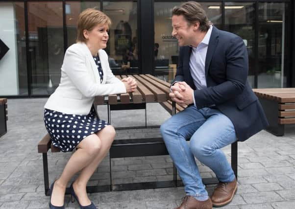
[[275, 136], [283, 136], [285, 125], [279, 124], [279, 104], [277, 101], [259, 98], [259, 101], [263, 107], [264, 113], [269, 121], [270, 126], [266, 128], [266, 131]]

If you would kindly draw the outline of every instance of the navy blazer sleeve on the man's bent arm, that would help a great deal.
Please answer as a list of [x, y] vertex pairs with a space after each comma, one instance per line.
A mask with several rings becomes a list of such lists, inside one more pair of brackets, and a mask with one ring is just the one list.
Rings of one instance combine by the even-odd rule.
[[[218, 52], [215, 51], [215, 53]], [[225, 52], [225, 59], [226, 81], [217, 86], [195, 90], [197, 108], [221, 104], [244, 91], [248, 74], [248, 55], [246, 46], [240, 37], [236, 36], [230, 41]]]

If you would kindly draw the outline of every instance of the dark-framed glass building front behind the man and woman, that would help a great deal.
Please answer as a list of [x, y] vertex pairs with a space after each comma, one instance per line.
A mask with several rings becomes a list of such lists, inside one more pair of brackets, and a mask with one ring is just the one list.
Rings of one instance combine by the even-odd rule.
[[[58, 86], [76, 21], [97, 7], [112, 20], [114, 74], [149, 73], [170, 81], [179, 46], [172, 8], [179, 0], [0, 0], [0, 97], [48, 96]], [[295, 87], [294, 0], [198, 0], [211, 23], [244, 40], [252, 88]], [[214, 60], [212, 60], [214, 62]]]

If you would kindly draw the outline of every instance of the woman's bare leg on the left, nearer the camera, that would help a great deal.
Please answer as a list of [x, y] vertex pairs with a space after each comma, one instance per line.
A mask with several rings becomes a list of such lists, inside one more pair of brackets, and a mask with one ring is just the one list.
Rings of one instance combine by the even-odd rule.
[[51, 204], [62, 206], [68, 182], [72, 176], [87, 166], [97, 157], [102, 147], [101, 140], [96, 134], [83, 139], [77, 146], [70, 160], [66, 164], [61, 176], [56, 180], [51, 195]]

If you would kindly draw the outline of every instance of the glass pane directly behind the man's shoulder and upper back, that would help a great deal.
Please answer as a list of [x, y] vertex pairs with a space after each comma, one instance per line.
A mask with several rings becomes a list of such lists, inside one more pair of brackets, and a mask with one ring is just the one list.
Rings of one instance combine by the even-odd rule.
[[248, 82], [254, 87], [255, 76], [255, 12], [254, 3], [225, 2], [225, 25], [224, 30], [240, 36], [247, 47], [249, 58]]

